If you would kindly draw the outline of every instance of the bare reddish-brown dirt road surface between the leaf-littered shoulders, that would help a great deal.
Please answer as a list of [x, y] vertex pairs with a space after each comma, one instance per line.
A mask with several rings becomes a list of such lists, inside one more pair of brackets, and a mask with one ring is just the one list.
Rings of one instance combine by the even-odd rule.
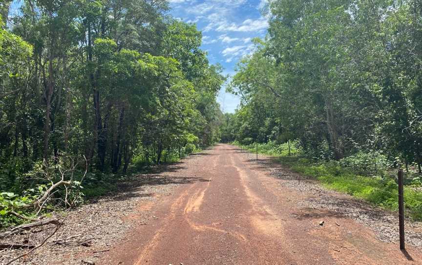
[[422, 264], [418, 249], [408, 247], [406, 258], [362, 224], [301, 208], [303, 194], [282, 188], [239, 151], [217, 145], [164, 173], [195, 181], [140, 205], [152, 207], [152, 221], [132, 230], [100, 264]]

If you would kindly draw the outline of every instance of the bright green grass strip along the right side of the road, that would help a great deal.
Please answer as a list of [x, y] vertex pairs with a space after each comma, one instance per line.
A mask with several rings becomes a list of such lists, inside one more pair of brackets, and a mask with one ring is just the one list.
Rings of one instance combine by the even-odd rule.
[[[268, 152], [268, 148], [263, 146], [264, 144], [258, 145], [258, 153], [272, 155]], [[247, 149], [256, 152], [253, 145], [247, 146]], [[388, 210], [398, 211], [398, 185], [388, 172], [380, 172], [379, 176], [361, 176], [351, 168], [341, 167], [337, 161], [312, 162], [297, 153], [294, 156], [277, 155], [277, 160], [297, 173], [319, 180], [329, 189], [352, 195]], [[404, 202], [406, 215], [421, 221], [422, 192], [411, 185], [404, 186]]]

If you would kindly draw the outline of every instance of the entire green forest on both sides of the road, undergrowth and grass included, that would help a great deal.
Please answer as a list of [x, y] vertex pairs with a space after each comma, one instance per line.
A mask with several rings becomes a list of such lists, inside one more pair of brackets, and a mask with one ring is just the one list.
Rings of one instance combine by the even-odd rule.
[[20, 2], [0, 6], [1, 226], [220, 140], [389, 209], [402, 167], [422, 218], [419, 0], [268, 1], [230, 78], [167, 0]]

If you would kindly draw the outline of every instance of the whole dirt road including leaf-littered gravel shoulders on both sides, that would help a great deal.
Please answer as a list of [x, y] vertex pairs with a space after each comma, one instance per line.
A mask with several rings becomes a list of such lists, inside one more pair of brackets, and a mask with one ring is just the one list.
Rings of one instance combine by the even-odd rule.
[[[406, 223], [401, 252], [394, 213], [300, 178], [219, 144], [70, 212], [57, 235], [16, 264], [422, 264], [419, 223]], [[12, 240], [36, 244], [49, 233]], [[21, 253], [1, 251], [0, 264]]]

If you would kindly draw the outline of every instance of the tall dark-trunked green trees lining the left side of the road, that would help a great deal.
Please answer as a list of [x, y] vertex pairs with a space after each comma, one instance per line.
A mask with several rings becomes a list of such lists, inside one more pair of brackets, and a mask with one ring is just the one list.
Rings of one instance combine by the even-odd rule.
[[28, 180], [42, 161], [125, 174], [219, 140], [225, 77], [167, 0], [22, 0], [7, 18], [11, 2], [0, 4], [1, 191], [55, 182]]

